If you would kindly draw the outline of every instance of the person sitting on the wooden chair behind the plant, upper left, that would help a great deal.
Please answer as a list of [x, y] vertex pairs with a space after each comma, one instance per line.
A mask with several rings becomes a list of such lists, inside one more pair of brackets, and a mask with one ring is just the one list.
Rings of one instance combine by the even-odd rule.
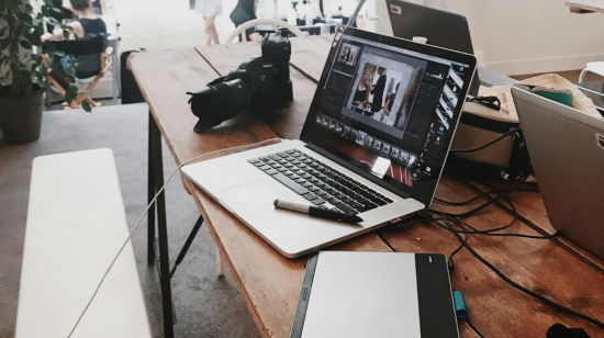
[[[98, 0], [97, 0], [98, 1]], [[92, 3], [90, 0], [70, 0], [72, 12], [77, 15], [77, 20], [68, 23], [71, 27], [76, 40], [82, 40], [86, 36], [94, 34], [107, 34], [107, 25], [101, 16], [92, 11]], [[64, 36], [63, 30], [55, 30], [53, 33], [46, 33], [42, 35], [42, 41], [66, 40], [68, 36]], [[96, 76], [99, 72], [99, 65], [101, 60], [100, 55], [86, 55], [77, 57], [79, 65], [76, 69], [76, 76], [80, 79], [86, 79]], [[69, 67], [67, 58], [60, 60], [64, 68]]]

